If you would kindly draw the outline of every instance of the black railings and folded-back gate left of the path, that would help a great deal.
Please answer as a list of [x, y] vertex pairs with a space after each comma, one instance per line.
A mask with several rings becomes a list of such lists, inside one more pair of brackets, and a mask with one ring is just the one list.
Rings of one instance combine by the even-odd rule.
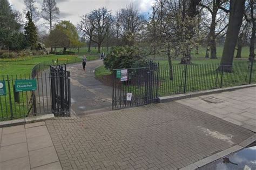
[[[31, 74], [0, 77], [0, 120], [48, 113], [69, 116], [70, 73], [63, 69], [57, 69], [62, 68], [61, 66], [57, 66], [57, 70], [52, 72], [45, 70], [46, 68], [50, 68], [50, 66], [40, 64], [34, 67]], [[33, 80], [36, 83], [36, 90], [17, 91], [15, 82], [19, 80]], [[52, 84], [52, 80], [55, 84]], [[52, 103], [52, 98], [55, 98], [55, 103]]]

